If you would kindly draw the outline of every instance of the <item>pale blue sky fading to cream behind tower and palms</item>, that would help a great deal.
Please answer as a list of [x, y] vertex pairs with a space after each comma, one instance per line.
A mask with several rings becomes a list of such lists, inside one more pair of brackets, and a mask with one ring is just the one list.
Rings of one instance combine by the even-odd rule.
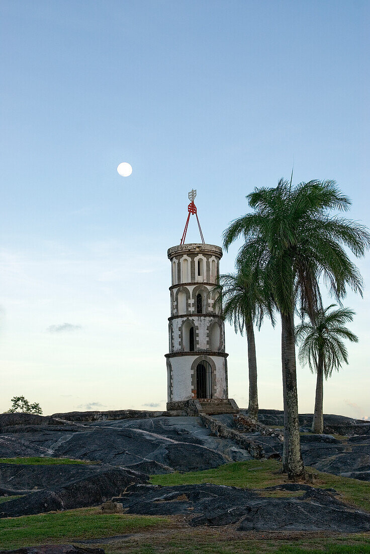
[[[0, 409], [22, 393], [45, 413], [162, 408], [166, 250], [191, 188], [214, 244], [246, 194], [293, 163], [295, 182], [336, 179], [351, 217], [368, 223], [370, 5], [3, 0], [0, 16]], [[118, 176], [122, 161], [131, 177]], [[188, 238], [198, 240], [194, 222]], [[359, 265], [368, 283], [368, 259]], [[368, 417], [367, 289], [347, 304], [360, 342], [327, 384], [325, 410]], [[227, 330], [241, 406], [245, 343]], [[266, 324], [264, 408], [282, 406], [279, 345]], [[298, 384], [312, 411], [307, 368]]]

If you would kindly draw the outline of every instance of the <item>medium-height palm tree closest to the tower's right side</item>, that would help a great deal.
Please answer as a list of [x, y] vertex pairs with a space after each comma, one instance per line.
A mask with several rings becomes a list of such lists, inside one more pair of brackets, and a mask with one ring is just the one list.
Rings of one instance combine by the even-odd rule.
[[272, 300], [264, 294], [263, 280], [256, 273], [256, 268], [247, 265], [239, 267], [236, 273], [220, 275], [218, 301], [223, 304], [223, 319], [234, 325], [235, 332], [247, 335], [248, 344], [248, 376], [249, 376], [249, 404], [248, 415], [252, 419], [258, 418], [258, 391], [257, 391], [257, 358], [254, 327], [258, 330], [262, 325], [263, 317], [268, 314], [272, 324], [275, 324]]

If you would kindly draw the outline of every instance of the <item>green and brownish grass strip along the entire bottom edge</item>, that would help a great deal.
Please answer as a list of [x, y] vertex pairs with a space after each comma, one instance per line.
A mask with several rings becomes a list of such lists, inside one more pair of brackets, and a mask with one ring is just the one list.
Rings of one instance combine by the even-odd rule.
[[98, 508], [0, 520], [0, 548], [75, 544], [78, 540], [131, 535], [93, 543], [106, 554], [370, 554], [370, 534], [236, 533], [225, 527], [180, 528], [171, 517], [101, 514]]

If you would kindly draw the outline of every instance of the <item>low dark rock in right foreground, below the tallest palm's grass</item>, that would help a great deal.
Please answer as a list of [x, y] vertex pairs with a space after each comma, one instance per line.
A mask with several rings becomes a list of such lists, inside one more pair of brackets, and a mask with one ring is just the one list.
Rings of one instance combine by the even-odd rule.
[[[294, 486], [294, 485], [293, 485]], [[296, 485], [296, 497], [264, 497], [263, 491], [220, 485], [132, 485], [112, 501], [129, 514], [194, 514], [190, 525], [237, 524], [239, 531], [370, 531], [370, 514], [354, 510], [329, 491]], [[270, 487], [292, 490], [290, 485]]]

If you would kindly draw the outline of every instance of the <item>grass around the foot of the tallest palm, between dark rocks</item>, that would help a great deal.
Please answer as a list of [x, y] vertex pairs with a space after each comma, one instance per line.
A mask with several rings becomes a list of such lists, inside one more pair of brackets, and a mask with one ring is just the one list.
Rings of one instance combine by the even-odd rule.
[[[286, 475], [280, 473], [281, 467], [282, 464], [277, 460], [237, 461], [233, 464], [220, 465], [216, 469], [207, 469], [206, 471], [153, 475], [150, 480], [156, 485], [212, 483], [246, 489], [265, 489], [268, 486], [288, 482]], [[322, 473], [313, 468], [307, 468], [307, 472], [315, 475], [315, 487], [335, 489], [341, 495], [343, 501], [370, 512], [370, 483], [367, 481]]]

